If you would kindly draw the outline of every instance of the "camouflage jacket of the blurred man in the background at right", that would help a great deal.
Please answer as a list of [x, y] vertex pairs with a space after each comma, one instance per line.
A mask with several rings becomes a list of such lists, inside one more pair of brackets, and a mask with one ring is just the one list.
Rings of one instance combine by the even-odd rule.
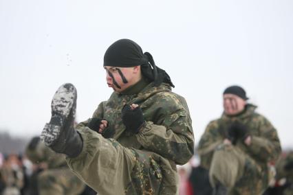
[[199, 141], [198, 152], [201, 156], [201, 163], [205, 168], [210, 167], [213, 151], [219, 144], [223, 143], [225, 132], [232, 122], [238, 120], [246, 125], [252, 137], [250, 146], [237, 141], [236, 146], [261, 166], [262, 170], [268, 170], [267, 163], [276, 161], [281, 154], [281, 146], [276, 129], [268, 119], [254, 112], [257, 106], [248, 104], [246, 111], [235, 117], [228, 117], [223, 114], [220, 119], [216, 119], [208, 124], [204, 135]]

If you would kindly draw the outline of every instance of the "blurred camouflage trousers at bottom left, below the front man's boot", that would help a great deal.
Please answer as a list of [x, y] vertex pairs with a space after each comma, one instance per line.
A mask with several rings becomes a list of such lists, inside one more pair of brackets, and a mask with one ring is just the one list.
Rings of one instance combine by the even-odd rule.
[[69, 168], [44, 170], [38, 176], [40, 195], [74, 195], [80, 194], [85, 184]]

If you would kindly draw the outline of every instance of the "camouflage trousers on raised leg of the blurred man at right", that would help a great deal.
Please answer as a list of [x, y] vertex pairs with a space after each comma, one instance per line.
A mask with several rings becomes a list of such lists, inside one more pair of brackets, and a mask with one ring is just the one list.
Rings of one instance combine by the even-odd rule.
[[215, 150], [209, 176], [213, 186], [219, 182], [234, 195], [263, 194], [268, 187], [267, 174], [235, 146], [221, 145]]

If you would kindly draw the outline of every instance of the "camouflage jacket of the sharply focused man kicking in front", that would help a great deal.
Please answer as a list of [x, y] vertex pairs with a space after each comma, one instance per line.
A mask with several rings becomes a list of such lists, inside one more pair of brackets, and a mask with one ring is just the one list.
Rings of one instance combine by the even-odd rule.
[[[124, 104], [142, 108], [146, 126], [137, 135], [125, 130], [121, 111]], [[169, 84], [148, 84], [139, 93], [126, 95], [113, 92], [101, 102], [92, 117], [106, 119], [116, 129], [113, 139], [122, 146], [147, 150], [169, 159], [171, 164], [184, 164], [193, 156], [194, 136], [191, 117], [184, 98], [171, 91]], [[78, 126], [86, 126], [86, 122]]]

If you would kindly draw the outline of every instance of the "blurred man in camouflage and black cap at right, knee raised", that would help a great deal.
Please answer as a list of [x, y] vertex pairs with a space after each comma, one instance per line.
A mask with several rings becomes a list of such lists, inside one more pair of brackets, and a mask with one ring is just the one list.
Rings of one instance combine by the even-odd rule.
[[276, 129], [248, 104], [239, 86], [224, 91], [224, 113], [208, 124], [198, 152], [215, 194], [262, 194], [268, 163], [281, 153]]

